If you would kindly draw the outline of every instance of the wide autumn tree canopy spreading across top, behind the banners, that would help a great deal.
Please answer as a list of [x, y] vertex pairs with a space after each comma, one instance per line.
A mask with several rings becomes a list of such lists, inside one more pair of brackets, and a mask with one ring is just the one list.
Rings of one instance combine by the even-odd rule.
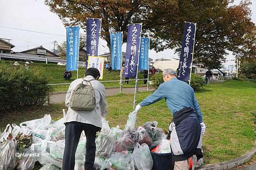
[[250, 0], [45, 0], [65, 25], [86, 28], [86, 18], [102, 18], [101, 36], [110, 48], [109, 32], [124, 32], [129, 23], [142, 23], [150, 48], [180, 53], [184, 21], [196, 22], [194, 63], [219, 68], [229, 51], [236, 57], [255, 56], [256, 30]]

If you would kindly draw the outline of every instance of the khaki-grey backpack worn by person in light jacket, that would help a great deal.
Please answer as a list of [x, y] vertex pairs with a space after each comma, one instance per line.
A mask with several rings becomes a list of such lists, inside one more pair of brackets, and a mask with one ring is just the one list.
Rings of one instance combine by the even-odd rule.
[[[92, 80], [83, 80], [81, 84], [78, 84], [73, 90], [70, 97], [70, 108], [73, 110], [92, 111], [96, 106], [95, 92], [92, 87]], [[89, 82], [83, 84], [83, 82]]]

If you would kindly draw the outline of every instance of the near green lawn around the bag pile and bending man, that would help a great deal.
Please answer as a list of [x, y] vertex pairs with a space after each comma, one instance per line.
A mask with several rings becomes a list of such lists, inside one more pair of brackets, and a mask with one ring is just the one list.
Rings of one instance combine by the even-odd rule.
[[[138, 94], [138, 101], [152, 92]], [[129, 112], [132, 111], [134, 96], [108, 97], [107, 119], [111, 127], [124, 128]], [[252, 113], [256, 112], [256, 84], [231, 80], [224, 83], [208, 84], [202, 92], [196, 93], [206, 124], [203, 136], [204, 161], [206, 164], [230, 160], [244, 154], [253, 147], [256, 140]], [[26, 108], [0, 115], [0, 127], [7, 123], [41, 118], [51, 114], [54, 120], [62, 117], [64, 104]], [[172, 119], [164, 100], [143, 107], [138, 113], [136, 126], [156, 120], [166, 132]]]

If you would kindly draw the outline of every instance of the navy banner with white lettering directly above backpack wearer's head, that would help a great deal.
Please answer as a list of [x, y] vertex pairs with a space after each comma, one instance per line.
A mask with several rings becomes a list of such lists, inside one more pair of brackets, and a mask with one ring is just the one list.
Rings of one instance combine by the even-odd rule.
[[86, 20], [86, 61], [88, 56], [98, 56], [98, 47], [100, 40], [100, 19]]

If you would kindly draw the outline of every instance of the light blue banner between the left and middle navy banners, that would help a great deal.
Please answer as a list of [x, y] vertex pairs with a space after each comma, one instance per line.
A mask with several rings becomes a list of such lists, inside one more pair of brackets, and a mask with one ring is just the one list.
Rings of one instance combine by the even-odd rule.
[[122, 68], [122, 32], [110, 33], [112, 70]]

